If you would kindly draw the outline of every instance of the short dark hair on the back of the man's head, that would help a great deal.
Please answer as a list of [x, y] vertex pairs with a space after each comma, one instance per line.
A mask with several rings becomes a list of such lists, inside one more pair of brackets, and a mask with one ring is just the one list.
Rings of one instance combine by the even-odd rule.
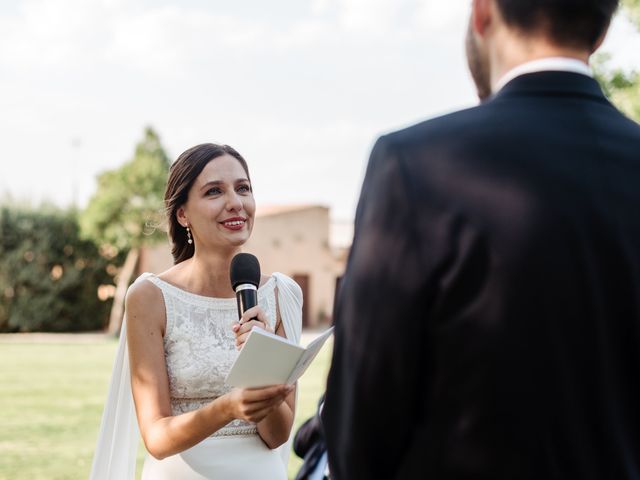
[[558, 45], [592, 48], [607, 30], [618, 0], [496, 0], [507, 25], [544, 34]]

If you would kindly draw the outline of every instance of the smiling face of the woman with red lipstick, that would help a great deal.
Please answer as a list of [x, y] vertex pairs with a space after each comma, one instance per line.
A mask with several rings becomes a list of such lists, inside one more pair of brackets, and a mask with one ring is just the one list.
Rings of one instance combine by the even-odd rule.
[[191, 229], [195, 247], [238, 247], [251, 236], [256, 205], [251, 183], [231, 155], [211, 160], [196, 178], [178, 219]]

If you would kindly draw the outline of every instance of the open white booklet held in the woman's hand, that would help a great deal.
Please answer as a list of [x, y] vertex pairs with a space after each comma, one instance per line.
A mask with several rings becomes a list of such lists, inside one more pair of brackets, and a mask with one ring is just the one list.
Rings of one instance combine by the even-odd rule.
[[333, 327], [304, 348], [284, 337], [253, 327], [229, 370], [226, 382], [232, 387], [242, 388], [292, 384], [307, 370], [332, 333]]

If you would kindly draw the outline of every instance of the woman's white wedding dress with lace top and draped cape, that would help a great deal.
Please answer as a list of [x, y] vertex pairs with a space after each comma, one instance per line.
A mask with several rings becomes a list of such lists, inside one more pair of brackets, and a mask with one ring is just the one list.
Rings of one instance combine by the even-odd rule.
[[[234, 359], [237, 321], [235, 298], [196, 295], [155, 275], [150, 281], [163, 294], [167, 325], [164, 337], [174, 415], [198, 409], [231, 388], [224, 379]], [[276, 289], [277, 287], [277, 289]], [[300, 340], [302, 293], [289, 277], [274, 273], [258, 289], [258, 303], [275, 327], [277, 305], [285, 333]], [[131, 398], [126, 331], [121, 335], [109, 397], [103, 414], [91, 480], [129, 480], [135, 472], [138, 430]], [[196, 446], [163, 460], [147, 455], [143, 480], [281, 480], [287, 478], [290, 444], [271, 450], [260, 439], [255, 424], [234, 420]]]

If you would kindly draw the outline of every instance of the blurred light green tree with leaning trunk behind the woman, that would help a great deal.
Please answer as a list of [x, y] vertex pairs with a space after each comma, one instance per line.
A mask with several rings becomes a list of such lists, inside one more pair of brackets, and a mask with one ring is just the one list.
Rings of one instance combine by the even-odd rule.
[[109, 317], [110, 333], [122, 323], [124, 297], [135, 271], [140, 247], [166, 241], [159, 228], [169, 158], [158, 134], [147, 127], [133, 159], [120, 168], [102, 173], [98, 189], [80, 217], [82, 233], [98, 245], [103, 255], [126, 260], [115, 277], [116, 290]]

